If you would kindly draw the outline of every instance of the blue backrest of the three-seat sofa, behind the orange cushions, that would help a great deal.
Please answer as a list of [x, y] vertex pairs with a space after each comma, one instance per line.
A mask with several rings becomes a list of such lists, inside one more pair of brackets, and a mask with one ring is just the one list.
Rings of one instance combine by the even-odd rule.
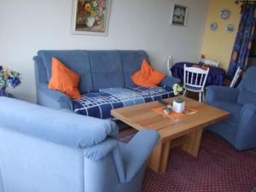
[[[51, 78], [51, 59], [55, 57], [80, 75], [79, 90], [99, 90], [134, 86], [131, 75], [137, 72], [148, 54], [143, 50], [39, 50], [47, 81]], [[38, 77], [37, 77], [38, 78]]]

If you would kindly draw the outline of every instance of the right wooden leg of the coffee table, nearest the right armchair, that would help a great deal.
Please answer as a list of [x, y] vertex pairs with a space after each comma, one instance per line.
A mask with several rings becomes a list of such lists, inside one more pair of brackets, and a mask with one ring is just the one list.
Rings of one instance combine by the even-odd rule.
[[197, 157], [200, 148], [202, 131], [203, 129], [194, 131], [183, 138], [182, 149], [195, 157]]

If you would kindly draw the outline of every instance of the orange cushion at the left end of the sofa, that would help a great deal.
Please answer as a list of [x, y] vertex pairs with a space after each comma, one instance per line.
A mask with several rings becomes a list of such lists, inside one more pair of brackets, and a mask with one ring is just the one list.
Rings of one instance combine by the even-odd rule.
[[50, 90], [60, 90], [72, 99], [81, 98], [79, 92], [79, 74], [67, 68], [55, 57], [51, 61], [51, 79], [49, 81]]

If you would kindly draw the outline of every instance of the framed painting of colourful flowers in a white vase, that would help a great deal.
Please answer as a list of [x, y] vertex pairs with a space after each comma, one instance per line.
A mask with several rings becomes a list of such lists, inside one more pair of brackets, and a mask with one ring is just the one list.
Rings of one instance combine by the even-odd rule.
[[72, 34], [107, 35], [110, 0], [73, 0]]

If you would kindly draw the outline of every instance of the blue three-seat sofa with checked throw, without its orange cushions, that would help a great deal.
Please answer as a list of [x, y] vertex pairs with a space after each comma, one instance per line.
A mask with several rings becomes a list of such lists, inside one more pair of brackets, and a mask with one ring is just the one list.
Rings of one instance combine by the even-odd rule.
[[[79, 73], [81, 99], [71, 100], [60, 91], [48, 89], [52, 57]], [[38, 104], [100, 119], [111, 118], [113, 108], [171, 97], [172, 85], [180, 81], [166, 76], [154, 88], [133, 84], [131, 75], [140, 69], [143, 59], [149, 61], [143, 50], [40, 50], [33, 59]]]

